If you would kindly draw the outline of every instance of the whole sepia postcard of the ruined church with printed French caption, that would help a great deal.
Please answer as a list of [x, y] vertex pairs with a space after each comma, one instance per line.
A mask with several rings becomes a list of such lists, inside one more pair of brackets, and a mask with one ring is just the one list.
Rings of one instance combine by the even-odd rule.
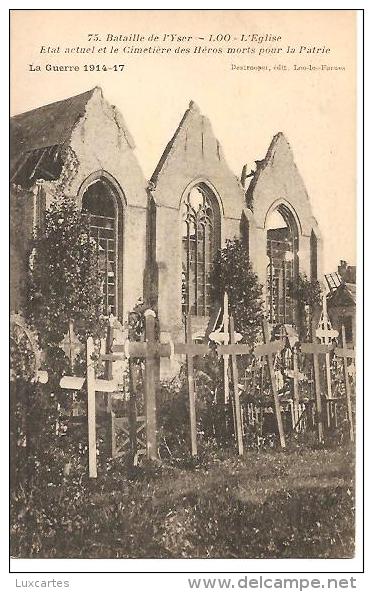
[[13, 571], [356, 571], [357, 27], [11, 11]]

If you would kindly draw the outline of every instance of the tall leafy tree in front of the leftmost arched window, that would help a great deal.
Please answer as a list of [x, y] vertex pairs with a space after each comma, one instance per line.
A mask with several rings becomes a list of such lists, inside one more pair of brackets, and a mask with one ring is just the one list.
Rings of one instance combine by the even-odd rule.
[[82, 339], [103, 334], [99, 247], [90, 237], [88, 217], [72, 199], [58, 199], [46, 211], [30, 257], [26, 300], [27, 320], [51, 363], [70, 322]]

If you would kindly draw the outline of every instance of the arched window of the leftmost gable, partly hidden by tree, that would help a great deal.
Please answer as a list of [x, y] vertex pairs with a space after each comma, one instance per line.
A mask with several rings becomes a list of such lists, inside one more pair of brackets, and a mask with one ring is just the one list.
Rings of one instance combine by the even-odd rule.
[[99, 249], [99, 263], [104, 272], [104, 314], [121, 313], [122, 235], [120, 199], [106, 179], [89, 185], [83, 194], [82, 211], [89, 216], [90, 235]]

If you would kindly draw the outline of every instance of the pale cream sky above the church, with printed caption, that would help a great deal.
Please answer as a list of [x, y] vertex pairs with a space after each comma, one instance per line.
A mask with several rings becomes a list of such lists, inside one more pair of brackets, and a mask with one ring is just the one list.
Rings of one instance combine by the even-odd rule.
[[[324, 238], [324, 271], [335, 271], [340, 259], [356, 260], [355, 18], [353, 11], [333, 10], [13, 11], [11, 112], [98, 85], [122, 112], [148, 178], [192, 99], [237, 176], [245, 163], [253, 168], [282, 131]], [[145, 39], [107, 41], [108, 35]], [[149, 41], [150, 35], [160, 39]], [[192, 39], [177, 42], [172, 35]], [[118, 53], [110, 53], [112, 46]], [[93, 54], [77, 53], [92, 47]], [[123, 47], [171, 52], [132, 54]], [[184, 51], [175, 53], [176, 47]], [[228, 47], [241, 53], [228, 55]], [[102, 70], [115, 64], [123, 64], [123, 72]], [[47, 65], [79, 71], [47, 71]], [[101, 71], [89, 71], [90, 65]], [[267, 69], [248, 69], [259, 66]], [[310, 69], [321, 66], [338, 69]]]

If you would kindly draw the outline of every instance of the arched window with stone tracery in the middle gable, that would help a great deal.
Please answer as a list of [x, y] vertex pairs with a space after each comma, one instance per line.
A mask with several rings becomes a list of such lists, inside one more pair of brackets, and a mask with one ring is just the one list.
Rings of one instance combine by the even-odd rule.
[[201, 184], [182, 203], [182, 310], [209, 316], [211, 271], [220, 243], [220, 213], [215, 196]]

